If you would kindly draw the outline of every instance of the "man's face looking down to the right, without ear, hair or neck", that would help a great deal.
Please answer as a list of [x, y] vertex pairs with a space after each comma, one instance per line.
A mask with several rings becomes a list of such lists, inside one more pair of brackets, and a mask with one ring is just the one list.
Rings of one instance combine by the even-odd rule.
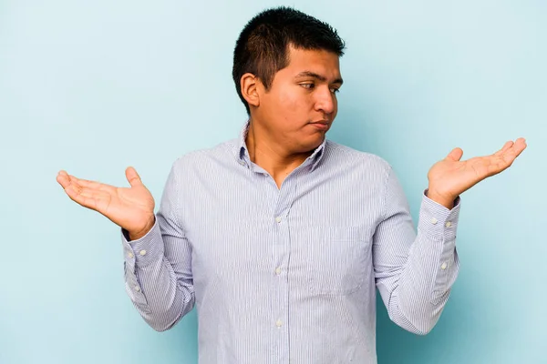
[[252, 117], [285, 150], [305, 153], [323, 142], [335, 120], [342, 86], [339, 57], [290, 46], [289, 59], [267, 91], [257, 86], [259, 105]]

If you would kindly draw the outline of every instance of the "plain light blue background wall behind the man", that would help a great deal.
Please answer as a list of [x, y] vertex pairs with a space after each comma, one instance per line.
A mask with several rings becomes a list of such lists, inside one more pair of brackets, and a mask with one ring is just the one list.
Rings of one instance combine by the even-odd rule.
[[[158, 200], [171, 163], [237, 136], [243, 25], [270, 1], [0, 2], [0, 362], [196, 363], [195, 310], [157, 333], [126, 296], [119, 229], [78, 207], [59, 169]], [[547, 363], [547, 3], [284, 3], [346, 39], [329, 136], [396, 169], [414, 217], [428, 168], [461, 147], [529, 147], [462, 196], [459, 279], [426, 337], [378, 301], [380, 364]]]

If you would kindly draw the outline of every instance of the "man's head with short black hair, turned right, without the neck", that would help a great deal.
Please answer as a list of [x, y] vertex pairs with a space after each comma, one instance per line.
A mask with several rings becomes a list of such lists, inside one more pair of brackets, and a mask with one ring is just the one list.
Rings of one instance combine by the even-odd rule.
[[302, 144], [289, 148], [317, 147], [336, 115], [344, 47], [330, 25], [297, 10], [254, 16], [236, 42], [232, 69], [252, 120], [277, 141]]

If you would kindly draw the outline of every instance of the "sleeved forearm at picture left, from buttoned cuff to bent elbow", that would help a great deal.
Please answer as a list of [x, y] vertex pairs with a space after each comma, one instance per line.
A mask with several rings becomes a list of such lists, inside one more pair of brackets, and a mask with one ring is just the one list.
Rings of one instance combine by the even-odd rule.
[[126, 290], [146, 322], [158, 331], [170, 329], [194, 304], [191, 284], [176, 277], [164, 257], [164, 237], [156, 223], [144, 237], [128, 242], [122, 234]]

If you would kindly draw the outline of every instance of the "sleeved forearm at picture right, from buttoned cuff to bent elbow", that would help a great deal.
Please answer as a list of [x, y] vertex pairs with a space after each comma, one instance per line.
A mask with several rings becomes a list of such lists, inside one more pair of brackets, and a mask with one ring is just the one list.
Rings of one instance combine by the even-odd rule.
[[427, 334], [439, 320], [459, 271], [458, 215], [459, 204], [449, 210], [425, 197], [405, 264], [378, 284], [390, 319], [404, 329]]

